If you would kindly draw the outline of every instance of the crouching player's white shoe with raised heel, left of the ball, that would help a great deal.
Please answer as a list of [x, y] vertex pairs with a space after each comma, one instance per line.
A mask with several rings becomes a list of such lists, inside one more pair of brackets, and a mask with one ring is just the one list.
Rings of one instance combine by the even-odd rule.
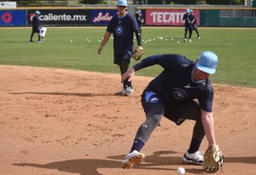
[[140, 164], [144, 159], [143, 153], [134, 150], [125, 156], [125, 159], [122, 161], [122, 168], [132, 168], [134, 164]]

